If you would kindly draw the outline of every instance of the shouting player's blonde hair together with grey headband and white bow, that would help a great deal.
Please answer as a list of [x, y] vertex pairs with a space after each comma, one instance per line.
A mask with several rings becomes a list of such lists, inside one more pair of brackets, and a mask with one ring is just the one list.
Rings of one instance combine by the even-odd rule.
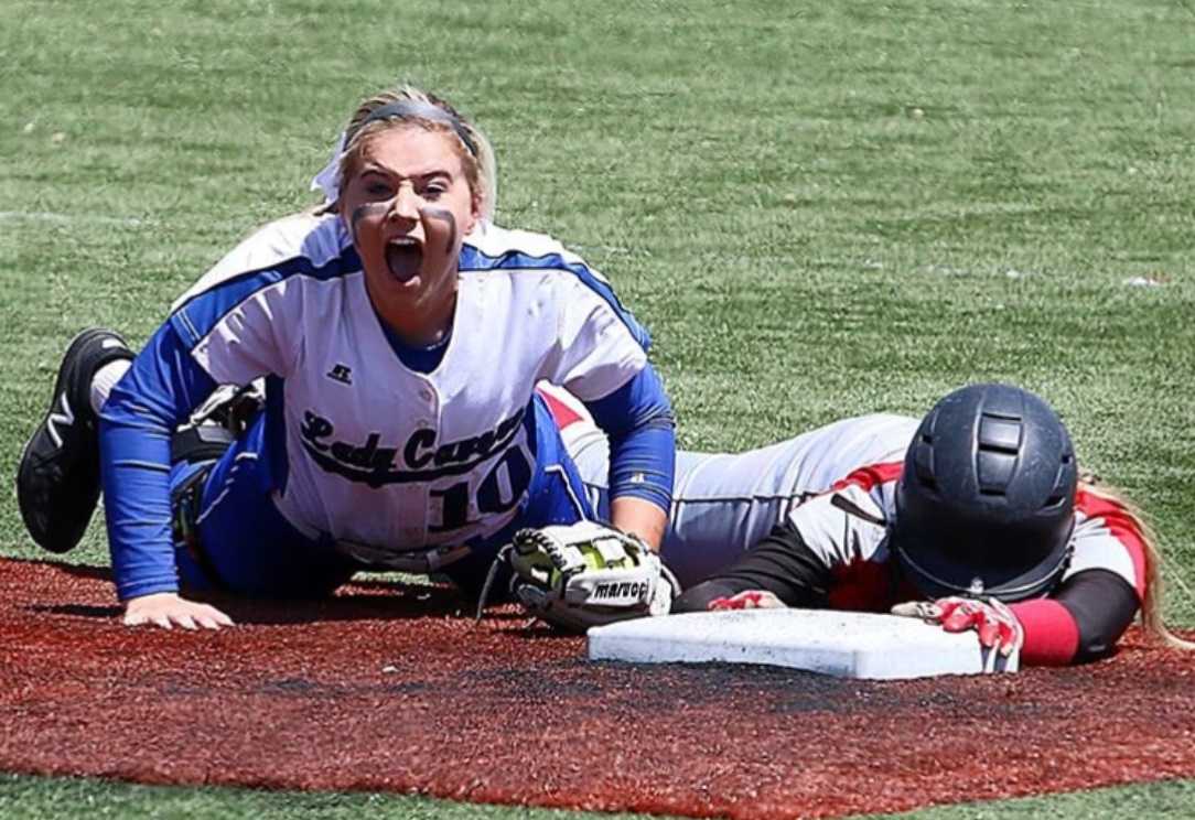
[[331, 210], [341, 198], [344, 180], [360, 158], [364, 139], [386, 128], [386, 123], [396, 122], [415, 123], [456, 137], [461, 167], [479, 203], [480, 216], [492, 221], [498, 201], [498, 176], [489, 139], [447, 100], [410, 85], [374, 94], [353, 112], [327, 165], [311, 180], [311, 189], [324, 194], [323, 210]]

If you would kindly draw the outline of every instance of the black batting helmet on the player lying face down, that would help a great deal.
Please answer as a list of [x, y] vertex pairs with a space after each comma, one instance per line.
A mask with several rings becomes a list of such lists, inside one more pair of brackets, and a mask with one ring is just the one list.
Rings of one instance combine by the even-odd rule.
[[1071, 436], [1046, 402], [1010, 385], [963, 387], [913, 436], [889, 544], [930, 598], [1035, 598], [1071, 558], [1077, 482]]

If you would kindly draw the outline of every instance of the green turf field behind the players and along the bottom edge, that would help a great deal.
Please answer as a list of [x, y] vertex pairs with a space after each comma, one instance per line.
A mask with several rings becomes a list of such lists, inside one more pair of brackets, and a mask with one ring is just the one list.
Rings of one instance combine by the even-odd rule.
[[[1146, 509], [1193, 625], [1193, 33], [1181, 0], [0, 0], [0, 471], [78, 329], [145, 339], [409, 79], [490, 134], [498, 221], [564, 240], [654, 331], [684, 446], [1017, 381]], [[37, 555], [11, 490], [0, 553]], [[102, 527], [72, 558], [106, 561]], [[4, 816], [367, 810], [554, 816], [0, 778]], [[925, 816], [1165, 812], [1195, 813], [1191, 784]]]

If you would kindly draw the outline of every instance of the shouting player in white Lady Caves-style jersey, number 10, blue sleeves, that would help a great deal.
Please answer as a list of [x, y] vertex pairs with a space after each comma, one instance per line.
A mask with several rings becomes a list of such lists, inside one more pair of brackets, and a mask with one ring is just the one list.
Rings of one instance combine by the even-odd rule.
[[[446, 103], [381, 94], [347, 133], [335, 202], [245, 240], [131, 363], [105, 331], [68, 351], [22, 461], [22, 510], [47, 547], [78, 540], [97, 411], [127, 623], [228, 623], [180, 581], [306, 595], [386, 565], [478, 583], [515, 527], [593, 514], [541, 380], [611, 439], [612, 522], [658, 545], [674, 433], [648, 333], [578, 257], [485, 219], [492, 155]], [[264, 411], [214, 465], [172, 458], [217, 386], [263, 378]]]

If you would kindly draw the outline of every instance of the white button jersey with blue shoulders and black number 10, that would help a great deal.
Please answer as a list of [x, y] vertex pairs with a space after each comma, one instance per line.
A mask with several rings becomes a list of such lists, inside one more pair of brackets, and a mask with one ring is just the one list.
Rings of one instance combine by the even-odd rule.
[[492, 225], [465, 240], [452, 338], [430, 373], [396, 355], [332, 214], [259, 231], [171, 323], [216, 383], [266, 377], [282, 514], [396, 551], [485, 538], [515, 516], [535, 469], [537, 381], [590, 400], [646, 363], [645, 333], [605, 280], [547, 237]]

